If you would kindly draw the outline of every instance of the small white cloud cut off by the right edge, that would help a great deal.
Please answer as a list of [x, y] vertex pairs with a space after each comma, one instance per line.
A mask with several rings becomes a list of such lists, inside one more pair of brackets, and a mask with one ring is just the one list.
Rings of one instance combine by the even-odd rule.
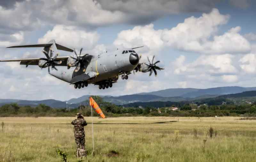
[[247, 54], [242, 57], [239, 62], [240, 67], [242, 70], [244, 70], [246, 73], [254, 73], [256, 71], [256, 56], [255, 54]]

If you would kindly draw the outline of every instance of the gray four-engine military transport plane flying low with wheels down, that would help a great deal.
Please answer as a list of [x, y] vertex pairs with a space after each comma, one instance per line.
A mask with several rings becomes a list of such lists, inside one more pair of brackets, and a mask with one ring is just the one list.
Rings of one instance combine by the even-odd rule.
[[[75, 49], [70, 49], [60, 44], [57, 44], [54, 40], [46, 44], [34, 44], [34, 45], [21, 45], [12, 46], [7, 48], [25, 48], [25, 47], [44, 47], [43, 53], [44, 58], [28, 58], [28, 59], [11, 59], [11, 60], [0, 60], [0, 62], [20, 62], [21, 65], [38, 65], [41, 69], [48, 67], [50, 75], [73, 84], [75, 88], [84, 88], [88, 84], [99, 85], [99, 89], [105, 89], [112, 87], [113, 83], [116, 83], [118, 76], [122, 79], [128, 79], [128, 75], [131, 71], [149, 72], [151, 76], [154, 71], [155, 76], [157, 75], [156, 70], [163, 70], [156, 66], [160, 61], [152, 61], [149, 63], [139, 63], [140, 57], [134, 51], [135, 48], [125, 49], [120, 54], [106, 54], [106, 55], [90, 55], [76, 54]], [[143, 47], [143, 46], [142, 46]], [[136, 47], [140, 48], [140, 47]], [[59, 50], [68, 52], [74, 52], [75, 55], [71, 56], [59, 56]], [[67, 66], [67, 70], [60, 70], [56, 66]], [[50, 67], [56, 71], [50, 71]], [[70, 67], [76, 67], [74, 70]], [[70, 69], [70, 70], [69, 70]]]

